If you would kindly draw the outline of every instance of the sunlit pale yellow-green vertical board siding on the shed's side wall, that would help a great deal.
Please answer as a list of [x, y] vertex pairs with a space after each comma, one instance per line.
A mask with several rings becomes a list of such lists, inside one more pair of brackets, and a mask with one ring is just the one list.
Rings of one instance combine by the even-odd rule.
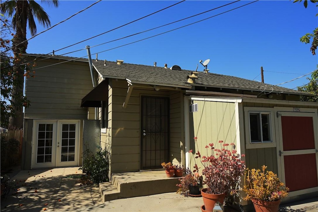
[[[224, 143], [236, 144], [235, 103], [212, 101], [194, 101], [193, 103], [198, 104], [198, 112], [190, 113], [190, 119], [192, 117], [193, 120], [193, 129], [190, 129], [192, 131], [190, 132], [192, 154], [199, 150], [201, 155], [210, 155], [211, 150], [205, 148], [209, 143], [213, 143], [215, 148], [222, 148]], [[192, 120], [190, 120], [190, 127]], [[192, 134], [197, 137], [197, 143]], [[224, 143], [219, 143], [219, 140], [223, 140]], [[228, 146], [228, 148], [230, 149], [232, 146]], [[191, 169], [196, 162], [199, 161], [195, 161], [191, 155]]]

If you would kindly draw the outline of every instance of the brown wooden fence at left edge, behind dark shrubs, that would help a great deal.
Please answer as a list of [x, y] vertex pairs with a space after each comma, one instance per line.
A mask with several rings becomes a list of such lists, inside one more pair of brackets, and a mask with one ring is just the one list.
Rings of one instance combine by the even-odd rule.
[[1, 164], [1, 167], [18, 164], [22, 158], [23, 130], [9, 130], [7, 133], [1, 133], [1, 135], [5, 137], [5, 140], [15, 139], [19, 141], [18, 151], [12, 155], [6, 155], [5, 160], [1, 161], [1, 163], [4, 163]]

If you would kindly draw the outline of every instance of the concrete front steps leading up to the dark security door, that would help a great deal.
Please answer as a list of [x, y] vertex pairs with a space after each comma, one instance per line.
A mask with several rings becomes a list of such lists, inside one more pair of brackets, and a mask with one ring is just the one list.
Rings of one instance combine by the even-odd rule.
[[100, 183], [103, 202], [175, 192], [178, 178], [168, 178], [165, 171], [128, 172], [112, 175], [111, 182]]

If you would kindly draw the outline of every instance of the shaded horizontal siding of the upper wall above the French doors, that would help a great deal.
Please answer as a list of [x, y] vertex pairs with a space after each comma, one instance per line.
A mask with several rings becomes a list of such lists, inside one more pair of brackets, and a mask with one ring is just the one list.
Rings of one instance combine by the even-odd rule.
[[[38, 62], [38, 67], [52, 65], [56, 60]], [[30, 107], [25, 118], [87, 119], [87, 108], [81, 99], [93, 89], [88, 63], [67, 62], [36, 70], [34, 78], [26, 79], [25, 93]]]

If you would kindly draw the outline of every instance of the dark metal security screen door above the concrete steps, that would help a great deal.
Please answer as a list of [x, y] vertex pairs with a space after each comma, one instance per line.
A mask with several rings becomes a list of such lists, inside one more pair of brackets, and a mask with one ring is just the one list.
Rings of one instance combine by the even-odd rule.
[[141, 169], [169, 162], [169, 99], [142, 97]]

